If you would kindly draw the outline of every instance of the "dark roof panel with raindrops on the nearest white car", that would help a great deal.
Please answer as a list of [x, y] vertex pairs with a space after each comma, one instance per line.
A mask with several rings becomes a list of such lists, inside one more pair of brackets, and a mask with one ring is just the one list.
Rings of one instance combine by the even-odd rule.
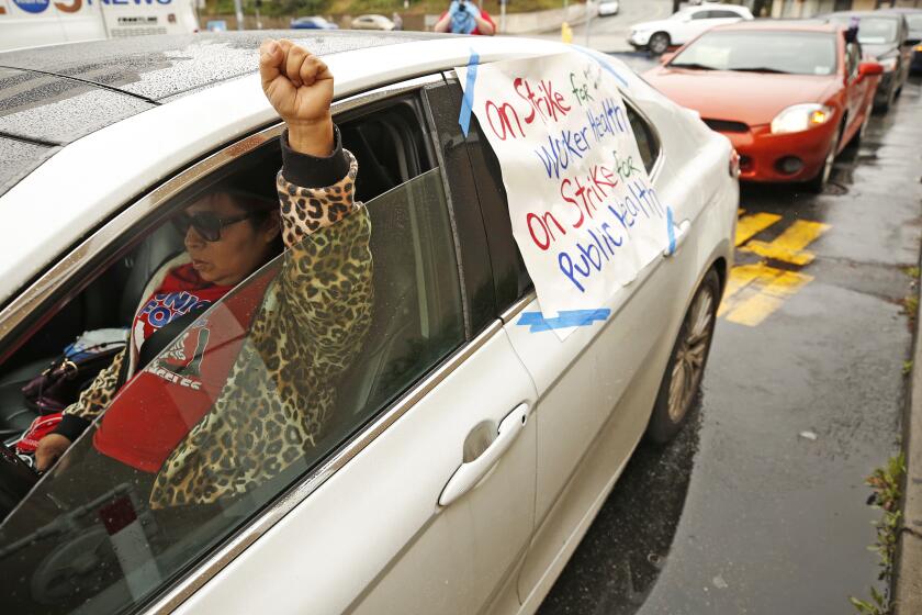
[[267, 37], [328, 56], [430, 33], [260, 31], [138, 36], [0, 53], [0, 195], [94, 131], [255, 72]]

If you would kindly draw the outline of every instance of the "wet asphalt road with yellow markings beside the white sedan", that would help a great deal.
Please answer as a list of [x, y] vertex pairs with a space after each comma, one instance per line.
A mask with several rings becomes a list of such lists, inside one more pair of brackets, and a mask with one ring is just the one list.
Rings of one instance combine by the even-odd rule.
[[[542, 615], [847, 614], [850, 595], [880, 586], [864, 479], [898, 449], [920, 179], [917, 76], [840, 156], [823, 194], [743, 188], [744, 215], [774, 222], [737, 266], [796, 283], [777, 299], [756, 280], [726, 300], [773, 297], [756, 324], [723, 313], [699, 407], [671, 445], [639, 448]], [[798, 221], [812, 261], [746, 251]]]

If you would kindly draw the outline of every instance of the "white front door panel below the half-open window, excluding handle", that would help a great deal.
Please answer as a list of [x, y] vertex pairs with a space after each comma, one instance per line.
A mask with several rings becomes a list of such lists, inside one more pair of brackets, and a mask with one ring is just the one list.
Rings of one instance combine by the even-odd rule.
[[475, 613], [527, 544], [535, 493], [529, 418], [480, 485], [437, 504], [468, 433], [535, 403], [505, 333], [483, 338], [179, 613]]

